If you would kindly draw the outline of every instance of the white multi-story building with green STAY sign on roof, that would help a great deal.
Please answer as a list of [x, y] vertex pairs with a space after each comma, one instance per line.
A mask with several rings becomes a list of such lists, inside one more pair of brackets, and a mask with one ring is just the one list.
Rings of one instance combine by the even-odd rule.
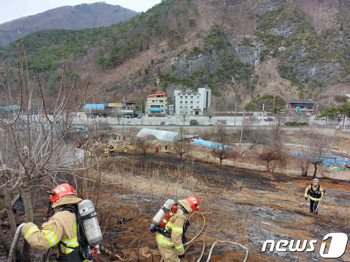
[[182, 92], [181, 87], [177, 87], [174, 90], [175, 114], [202, 116], [203, 111], [210, 108], [210, 96], [208, 86], [198, 88], [198, 92], [189, 88]]

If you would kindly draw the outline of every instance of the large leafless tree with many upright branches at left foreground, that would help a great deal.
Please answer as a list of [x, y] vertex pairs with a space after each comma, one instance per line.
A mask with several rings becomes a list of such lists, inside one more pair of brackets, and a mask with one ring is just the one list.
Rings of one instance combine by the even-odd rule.
[[[70, 133], [75, 129], [73, 117], [83, 104], [89, 85], [87, 82], [81, 100], [76, 104], [76, 110], [72, 110], [70, 104], [76, 80], [74, 79], [70, 88], [63, 86], [64, 56], [62, 56], [61, 85], [57, 88], [56, 99], [49, 104], [44, 99], [46, 96], [44, 73], [42, 75], [35, 73], [34, 78], [29, 78], [24, 42], [24, 60], [18, 40], [17, 47], [18, 78], [13, 84], [17, 86], [15, 88], [11, 86], [6, 61], [3, 66], [4, 72], [1, 73], [2, 85], [6, 87], [1, 94], [1, 101], [7, 105], [14, 105], [19, 101], [20, 108], [15, 114], [9, 115], [7, 121], [0, 119], [0, 192], [5, 195], [2, 204], [7, 209], [12, 233], [16, 231], [16, 221], [10, 206], [14, 192], [20, 192], [25, 209], [25, 221], [33, 222], [36, 194], [39, 188], [47, 186], [51, 189], [58, 182], [65, 180], [66, 175], [73, 176], [78, 170], [82, 170], [75, 163], [85, 156], [77, 157], [72, 146], [75, 136], [71, 136]], [[39, 100], [36, 101], [40, 103], [38, 112], [33, 106], [37, 97], [36, 90], [39, 90]], [[51, 114], [48, 113], [49, 110]], [[68, 117], [71, 111], [72, 117]], [[64, 123], [58, 124], [59, 118], [62, 118]], [[64, 130], [63, 133], [61, 130]], [[61, 175], [56, 176], [57, 174]], [[23, 256], [28, 254], [29, 245], [25, 242]]]

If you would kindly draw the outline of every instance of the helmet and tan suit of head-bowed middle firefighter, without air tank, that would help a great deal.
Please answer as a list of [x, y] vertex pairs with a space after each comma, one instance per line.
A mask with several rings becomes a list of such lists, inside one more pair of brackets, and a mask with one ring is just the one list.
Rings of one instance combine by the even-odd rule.
[[165, 225], [167, 232], [157, 232], [156, 235], [158, 248], [165, 262], [180, 262], [180, 258], [185, 256], [183, 244], [186, 242], [186, 238], [184, 233], [189, 226], [186, 214], [199, 210], [201, 203], [198, 197], [189, 196], [179, 200], [175, 205], [177, 210]]

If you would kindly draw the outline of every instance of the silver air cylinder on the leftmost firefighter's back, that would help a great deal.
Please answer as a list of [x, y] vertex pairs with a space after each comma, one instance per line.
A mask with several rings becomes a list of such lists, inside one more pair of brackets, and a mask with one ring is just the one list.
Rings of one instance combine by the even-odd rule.
[[[93, 203], [86, 199], [79, 203], [78, 212], [80, 217], [85, 216], [91, 212], [95, 212], [95, 208], [93, 207]], [[100, 230], [100, 225], [98, 223], [97, 217], [92, 217], [82, 222], [84, 232], [87, 238], [87, 242], [90, 246], [98, 248], [99, 243], [102, 241], [102, 233]]]

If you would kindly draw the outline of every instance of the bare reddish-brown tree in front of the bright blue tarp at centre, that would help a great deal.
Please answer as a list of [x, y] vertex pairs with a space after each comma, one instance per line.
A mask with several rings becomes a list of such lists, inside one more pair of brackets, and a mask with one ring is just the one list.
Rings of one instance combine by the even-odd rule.
[[220, 159], [220, 165], [222, 165], [222, 160], [224, 159], [235, 159], [238, 157], [238, 148], [233, 145], [224, 125], [216, 126], [211, 154], [215, 158]]

